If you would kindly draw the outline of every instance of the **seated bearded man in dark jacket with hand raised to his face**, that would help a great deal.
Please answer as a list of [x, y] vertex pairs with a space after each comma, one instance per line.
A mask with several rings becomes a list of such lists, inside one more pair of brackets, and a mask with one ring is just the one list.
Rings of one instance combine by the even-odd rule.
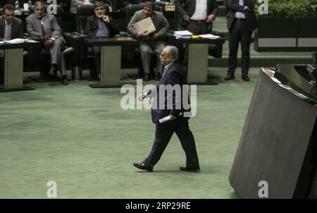
[[[85, 34], [89, 37], [113, 37], [119, 34], [118, 26], [113, 22], [113, 18], [106, 16], [106, 5], [104, 2], [97, 1], [94, 4], [95, 15], [87, 18]], [[94, 50], [94, 63], [96, 65], [96, 71], [100, 78], [100, 53], [101, 48], [99, 46], [92, 47]], [[111, 54], [111, 53], [109, 53]]]

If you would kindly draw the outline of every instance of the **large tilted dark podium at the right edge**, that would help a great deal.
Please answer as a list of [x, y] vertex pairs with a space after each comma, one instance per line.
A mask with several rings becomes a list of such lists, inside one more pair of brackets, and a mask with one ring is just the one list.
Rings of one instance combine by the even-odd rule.
[[[307, 198], [316, 193], [317, 87], [305, 65], [261, 68], [230, 172], [238, 197]], [[314, 195], [316, 196], [316, 195]]]

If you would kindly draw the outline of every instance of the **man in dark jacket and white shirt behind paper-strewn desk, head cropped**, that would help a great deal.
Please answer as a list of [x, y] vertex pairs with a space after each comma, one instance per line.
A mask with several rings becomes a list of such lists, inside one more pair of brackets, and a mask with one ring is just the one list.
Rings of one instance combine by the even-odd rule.
[[180, 26], [194, 35], [211, 33], [218, 15], [216, 0], [175, 0], [180, 14]]

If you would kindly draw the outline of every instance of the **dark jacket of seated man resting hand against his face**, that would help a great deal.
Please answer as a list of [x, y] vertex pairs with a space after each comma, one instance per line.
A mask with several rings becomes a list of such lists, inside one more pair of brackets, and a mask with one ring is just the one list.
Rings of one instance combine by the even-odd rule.
[[[110, 33], [110, 37], [119, 34], [118, 26], [113, 22], [113, 18], [109, 16], [110, 22], [106, 23], [106, 27]], [[85, 34], [89, 37], [96, 37], [98, 31], [98, 17], [96, 15], [89, 16], [86, 20]]]

